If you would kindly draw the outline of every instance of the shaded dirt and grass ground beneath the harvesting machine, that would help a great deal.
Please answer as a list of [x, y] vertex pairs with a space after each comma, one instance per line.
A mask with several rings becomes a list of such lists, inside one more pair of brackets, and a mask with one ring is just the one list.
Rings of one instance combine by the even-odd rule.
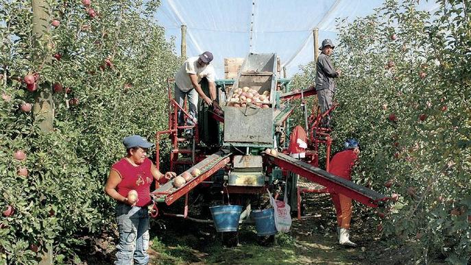
[[[306, 194], [305, 215], [293, 216], [289, 234], [261, 244], [254, 225], [239, 227], [237, 247], [221, 246], [221, 235], [208, 223], [182, 218], [154, 220], [150, 264], [415, 264], [411, 248], [385, 240], [376, 231], [372, 210], [361, 208], [352, 218], [350, 238], [358, 247], [337, 244], [335, 212], [328, 194]], [[81, 264], [112, 264], [117, 235], [93, 239]], [[435, 264], [442, 264], [436, 262]]]

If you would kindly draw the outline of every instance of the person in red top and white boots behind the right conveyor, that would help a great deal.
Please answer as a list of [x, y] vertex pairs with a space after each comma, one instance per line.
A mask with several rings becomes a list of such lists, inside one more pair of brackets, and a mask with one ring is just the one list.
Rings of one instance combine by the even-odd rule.
[[[359, 142], [355, 139], [348, 139], [345, 142], [345, 150], [336, 153], [330, 160], [329, 172], [343, 179], [351, 180], [351, 173], [354, 164], [358, 160], [360, 153]], [[357, 244], [350, 241], [350, 219], [352, 218], [352, 199], [343, 194], [330, 192], [330, 197], [337, 212], [337, 235], [339, 244], [356, 247]]]

